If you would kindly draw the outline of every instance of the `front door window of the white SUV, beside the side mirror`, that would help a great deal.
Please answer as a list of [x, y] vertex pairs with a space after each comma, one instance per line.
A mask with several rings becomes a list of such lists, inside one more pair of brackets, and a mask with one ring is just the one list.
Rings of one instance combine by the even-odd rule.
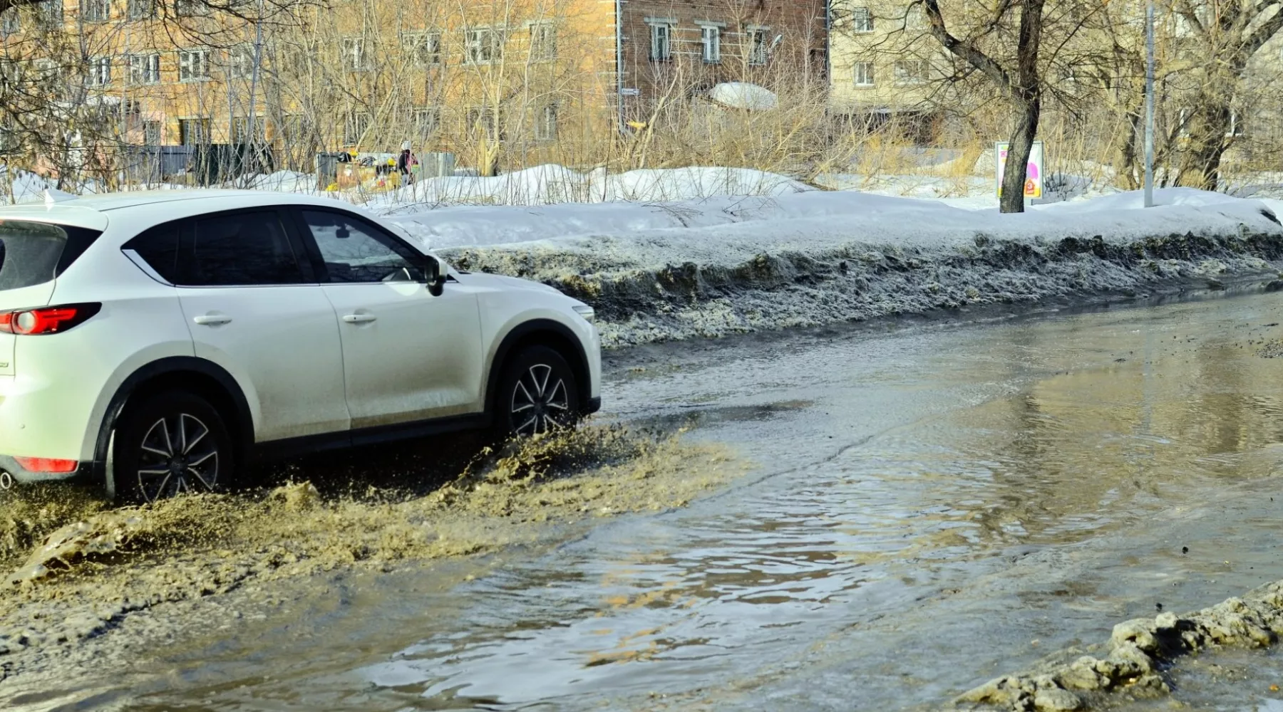
[[303, 210], [316, 238], [330, 282], [416, 282], [423, 279], [421, 259], [370, 223], [325, 210]]

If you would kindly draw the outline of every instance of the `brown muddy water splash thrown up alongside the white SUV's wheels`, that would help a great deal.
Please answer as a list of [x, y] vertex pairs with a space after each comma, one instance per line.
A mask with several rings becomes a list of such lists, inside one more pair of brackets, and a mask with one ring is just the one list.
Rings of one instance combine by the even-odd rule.
[[548, 535], [539, 522], [683, 506], [743, 471], [725, 451], [681, 433], [585, 426], [484, 452], [426, 496], [371, 488], [325, 498], [300, 481], [121, 510], [23, 503], [6, 521], [46, 514], [10, 525], [23, 533], [15, 543], [62, 526], [0, 593], [0, 661], [21, 670], [23, 651], [101, 635], [164, 602], [339, 569], [390, 571], [532, 543]]

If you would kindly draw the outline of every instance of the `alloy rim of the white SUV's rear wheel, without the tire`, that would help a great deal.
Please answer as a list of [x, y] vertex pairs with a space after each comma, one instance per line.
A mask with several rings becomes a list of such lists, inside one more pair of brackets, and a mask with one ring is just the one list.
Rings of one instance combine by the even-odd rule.
[[199, 417], [182, 412], [151, 424], [142, 437], [139, 490], [148, 502], [218, 485], [218, 443]]

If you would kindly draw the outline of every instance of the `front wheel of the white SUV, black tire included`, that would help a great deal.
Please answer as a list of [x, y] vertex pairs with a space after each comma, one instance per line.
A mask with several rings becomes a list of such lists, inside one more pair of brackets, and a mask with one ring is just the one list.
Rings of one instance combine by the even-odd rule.
[[582, 416], [575, 371], [547, 346], [522, 348], [504, 364], [494, 409], [495, 435], [500, 438], [574, 426]]

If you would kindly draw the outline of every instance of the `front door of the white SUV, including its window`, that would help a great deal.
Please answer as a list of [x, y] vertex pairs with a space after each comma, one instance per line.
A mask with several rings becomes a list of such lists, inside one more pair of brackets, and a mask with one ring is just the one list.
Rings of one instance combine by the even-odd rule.
[[432, 296], [429, 257], [361, 216], [312, 207], [298, 215], [339, 315], [352, 426], [480, 412], [475, 291], [452, 282]]

